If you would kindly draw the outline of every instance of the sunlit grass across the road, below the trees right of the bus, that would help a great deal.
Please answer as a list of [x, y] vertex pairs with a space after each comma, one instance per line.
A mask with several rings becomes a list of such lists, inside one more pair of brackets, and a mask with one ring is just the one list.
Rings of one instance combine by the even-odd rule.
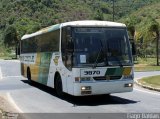
[[135, 71], [160, 71], [160, 66], [156, 66], [156, 58], [138, 58], [134, 69]]

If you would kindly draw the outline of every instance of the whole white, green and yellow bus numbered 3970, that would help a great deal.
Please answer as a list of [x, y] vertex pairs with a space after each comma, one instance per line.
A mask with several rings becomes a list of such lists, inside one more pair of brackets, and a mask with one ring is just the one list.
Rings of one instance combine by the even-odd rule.
[[126, 25], [108, 21], [56, 24], [21, 39], [21, 73], [55, 88], [59, 96], [133, 90], [133, 60]]

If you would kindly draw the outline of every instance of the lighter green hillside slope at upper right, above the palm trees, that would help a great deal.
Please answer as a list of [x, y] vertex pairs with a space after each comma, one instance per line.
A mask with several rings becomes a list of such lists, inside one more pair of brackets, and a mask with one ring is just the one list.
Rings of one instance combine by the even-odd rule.
[[[131, 14], [119, 19], [119, 22], [134, 25], [136, 32], [143, 35], [143, 32], [147, 32], [147, 27], [151, 22], [157, 22], [160, 25], [160, 2], [139, 8]], [[150, 38], [148, 37], [146, 40], [147, 39]]]

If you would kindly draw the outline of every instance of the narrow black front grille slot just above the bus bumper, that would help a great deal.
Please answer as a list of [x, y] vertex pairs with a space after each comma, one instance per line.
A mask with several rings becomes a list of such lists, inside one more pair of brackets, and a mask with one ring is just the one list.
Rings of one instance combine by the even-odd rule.
[[94, 80], [118, 80], [121, 79], [122, 76], [100, 76], [100, 77], [93, 77]]

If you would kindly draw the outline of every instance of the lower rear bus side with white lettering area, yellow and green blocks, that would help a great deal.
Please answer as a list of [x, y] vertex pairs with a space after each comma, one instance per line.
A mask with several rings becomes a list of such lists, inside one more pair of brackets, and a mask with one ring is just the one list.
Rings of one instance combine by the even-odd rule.
[[27, 78], [30, 69], [31, 80], [47, 85], [52, 53], [42, 52], [21, 55], [21, 74]]

